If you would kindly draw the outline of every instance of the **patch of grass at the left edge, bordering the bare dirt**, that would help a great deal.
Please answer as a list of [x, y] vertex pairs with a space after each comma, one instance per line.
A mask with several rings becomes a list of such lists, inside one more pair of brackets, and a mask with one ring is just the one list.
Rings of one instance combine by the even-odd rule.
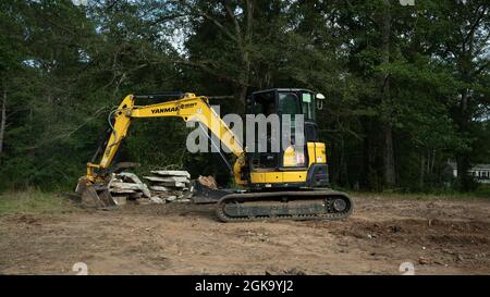
[[28, 189], [0, 195], [0, 215], [5, 214], [38, 214], [74, 211], [73, 202], [53, 193]]

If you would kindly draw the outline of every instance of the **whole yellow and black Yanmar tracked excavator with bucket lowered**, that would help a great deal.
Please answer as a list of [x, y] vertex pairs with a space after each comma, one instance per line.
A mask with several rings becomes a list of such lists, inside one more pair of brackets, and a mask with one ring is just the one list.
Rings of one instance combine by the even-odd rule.
[[[138, 99], [152, 99], [157, 103], [138, 106]], [[216, 203], [216, 213], [222, 222], [256, 220], [332, 220], [347, 218], [353, 210], [350, 197], [328, 188], [326, 145], [318, 141], [316, 107], [324, 97], [307, 89], [275, 88], [253, 92], [246, 101], [247, 114], [289, 114], [294, 127], [294, 116], [304, 115], [304, 147], [297, 145], [280, 148], [279, 152], [247, 151], [233, 131], [211, 108], [209, 98], [192, 92], [163, 92], [128, 95], [109, 115], [108, 137], [87, 163], [86, 175], [79, 178], [77, 191], [82, 196], [96, 196], [108, 200], [110, 175], [124, 169], [125, 163], [113, 164], [121, 141], [137, 117], [181, 117], [197, 122], [219, 139], [222, 147], [234, 154], [235, 162], [228, 163], [236, 184], [235, 189], [213, 190], [196, 184], [193, 197], [196, 203]], [[292, 120], [291, 120], [292, 119]], [[284, 120], [281, 120], [284, 121]], [[283, 125], [280, 126], [282, 128]], [[282, 131], [280, 132], [283, 133]], [[294, 143], [294, 135], [292, 136]], [[217, 145], [217, 144], [213, 144]], [[99, 160], [96, 162], [96, 160]]]

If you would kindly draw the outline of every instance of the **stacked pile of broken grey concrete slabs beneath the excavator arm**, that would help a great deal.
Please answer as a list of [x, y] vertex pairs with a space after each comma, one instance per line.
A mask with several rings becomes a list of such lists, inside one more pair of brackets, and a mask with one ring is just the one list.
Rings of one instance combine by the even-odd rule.
[[193, 189], [187, 171], [156, 170], [151, 173], [154, 175], [143, 176], [149, 186], [133, 173], [113, 174], [108, 189], [115, 205], [122, 206], [127, 201], [138, 205], [191, 201]]

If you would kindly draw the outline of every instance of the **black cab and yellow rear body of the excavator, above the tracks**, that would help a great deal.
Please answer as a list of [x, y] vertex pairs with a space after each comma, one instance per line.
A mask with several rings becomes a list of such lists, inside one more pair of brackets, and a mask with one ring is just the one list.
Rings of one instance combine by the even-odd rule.
[[[317, 96], [308, 89], [277, 88], [256, 91], [247, 99], [247, 113], [256, 116], [264, 114], [267, 124], [266, 151], [259, 148], [260, 137], [257, 137], [259, 132], [256, 125], [254, 151], [247, 156], [252, 187], [261, 189], [328, 185], [326, 147], [318, 141], [317, 98], [324, 99], [322, 95]], [[273, 115], [280, 120], [279, 126], [272, 123]], [[298, 115], [303, 115], [304, 121], [303, 125], [296, 126]], [[303, 131], [296, 134], [296, 128]], [[282, 136], [287, 133], [290, 137], [283, 143]]]

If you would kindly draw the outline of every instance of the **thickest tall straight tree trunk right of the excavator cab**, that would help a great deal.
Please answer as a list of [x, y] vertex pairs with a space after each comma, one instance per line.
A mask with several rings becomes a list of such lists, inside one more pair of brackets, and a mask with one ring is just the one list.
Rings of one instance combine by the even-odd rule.
[[[391, 35], [391, 4], [390, 0], [383, 0], [383, 20], [382, 20], [382, 63], [390, 63], [390, 35]], [[382, 76], [382, 104], [391, 107], [390, 96], [390, 74]], [[390, 109], [388, 109], [390, 110]], [[383, 173], [384, 184], [394, 186], [396, 183], [394, 149], [393, 149], [393, 128], [391, 126], [391, 112], [388, 111], [383, 123]]]

